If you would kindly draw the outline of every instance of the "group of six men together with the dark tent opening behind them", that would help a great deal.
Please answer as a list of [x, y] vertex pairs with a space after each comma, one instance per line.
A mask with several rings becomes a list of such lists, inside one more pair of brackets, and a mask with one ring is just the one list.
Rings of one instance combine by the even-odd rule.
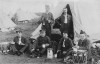
[[[73, 48], [78, 48], [82, 50], [86, 50], [88, 52], [87, 56], [90, 60], [91, 57], [91, 49], [90, 49], [90, 41], [84, 31], [80, 31], [80, 38], [77, 39], [77, 42], [74, 38], [74, 29], [72, 23], [72, 15], [68, 10], [68, 7], [63, 9], [63, 13], [57, 20], [54, 20], [53, 14], [49, 11], [50, 6], [46, 5], [46, 12], [43, 13], [39, 23], [42, 23], [42, 27], [37, 39], [29, 39], [27, 40], [22, 35], [22, 31], [19, 30], [16, 33], [18, 36], [14, 38], [15, 44], [12, 47], [11, 51], [13, 54], [18, 56], [22, 55], [23, 53], [27, 53], [29, 57], [40, 58], [43, 56], [47, 56], [47, 50], [49, 48], [52, 49], [53, 55], [57, 55], [57, 58], [64, 58], [67, 57], [68, 53]], [[59, 10], [58, 10], [59, 11]], [[55, 27], [54, 27], [55, 26]], [[58, 37], [55, 36], [56, 40], [52, 40], [52, 29], [58, 28], [61, 34], [59, 36], [61, 38], [57, 39]], [[58, 41], [59, 40], [59, 41]], [[71, 55], [71, 54], [70, 54]], [[68, 55], [69, 56], [69, 55]]]

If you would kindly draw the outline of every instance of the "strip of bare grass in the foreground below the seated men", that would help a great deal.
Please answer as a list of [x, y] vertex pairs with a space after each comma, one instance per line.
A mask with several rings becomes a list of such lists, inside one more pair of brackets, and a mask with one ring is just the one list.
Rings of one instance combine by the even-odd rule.
[[58, 61], [58, 59], [28, 58], [26, 55], [16, 56], [0, 54], [0, 64], [61, 64]]

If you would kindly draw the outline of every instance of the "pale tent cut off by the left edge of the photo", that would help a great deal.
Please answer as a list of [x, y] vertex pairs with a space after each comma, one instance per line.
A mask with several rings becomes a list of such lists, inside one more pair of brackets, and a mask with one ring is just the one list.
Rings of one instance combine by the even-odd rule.
[[2, 32], [13, 30], [16, 24], [3, 12], [0, 11], [0, 29]]

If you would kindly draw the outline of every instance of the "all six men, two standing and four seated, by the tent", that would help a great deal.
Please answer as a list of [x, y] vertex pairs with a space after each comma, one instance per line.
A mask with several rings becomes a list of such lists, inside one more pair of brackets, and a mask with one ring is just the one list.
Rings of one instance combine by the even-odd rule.
[[[39, 37], [36, 39], [34, 48], [30, 49], [30, 43], [28, 43], [27, 39], [22, 36], [22, 31], [17, 31], [18, 36], [14, 38], [15, 47], [14, 53], [17, 55], [21, 55], [25, 52], [28, 52], [30, 56], [34, 57], [42, 57], [46, 54], [47, 49], [52, 46], [51, 43], [51, 29], [53, 29], [54, 18], [53, 14], [49, 11], [49, 5], [46, 5], [46, 13], [44, 13], [41, 17], [40, 22], [42, 23], [42, 29], [40, 30]], [[65, 57], [65, 54], [69, 49], [71, 49], [75, 44], [74, 41], [68, 37], [68, 23], [70, 15], [67, 14], [67, 8], [64, 8], [63, 14], [60, 18], [60, 31], [63, 36], [57, 46], [57, 54], [61, 52], [61, 56]], [[79, 47], [84, 47], [89, 50], [90, 41], [86, 38], [86, 34], [81, 33], [81, 38], [78, 41]]]

